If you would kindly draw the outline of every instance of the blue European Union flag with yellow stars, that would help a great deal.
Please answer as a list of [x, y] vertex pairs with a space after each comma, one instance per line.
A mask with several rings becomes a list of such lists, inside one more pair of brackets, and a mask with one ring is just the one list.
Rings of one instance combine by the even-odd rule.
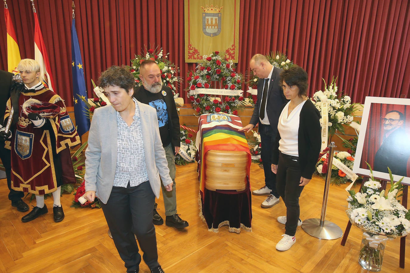
[[90, 129], [90, 120], [84, 113], [87, 109], [85, 103], [80, 97], [87, 100], [87, 90], [84, 80], [84, 68], [81, 59], [80, 45], [78, 44], [77, 31], [75, 30], [75, 19], [71, 25], [71, 54], [73, 63], [73, 99], [74, 99], [74, 115], [77, 132], [81, 136]]

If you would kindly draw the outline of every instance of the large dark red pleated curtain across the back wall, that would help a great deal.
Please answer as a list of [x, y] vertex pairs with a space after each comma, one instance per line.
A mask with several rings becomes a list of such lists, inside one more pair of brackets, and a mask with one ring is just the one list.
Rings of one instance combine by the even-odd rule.
[[[75, 0], [75, 18], [88, 95], [91, 79], [111, 65], [130, 65], [145, 46], [160, 46], [186, 78], [183, 0]], [[34, 58], [30, 1], [7, 1], [22, 58]], [[55, 90], [73, 105], [71, 1], [35, 1], [50, 57]], [[339, 90], [364, 97], [408, 96], [410, 12], [408, 0], [241, 0], [238, 71], [249, 74], [255, 53], [279, 50], [309, 74], [309, 95], [338, 76]], [[0, 69], [7, 70], [4, 11], [0, 9]], [[187, 82], [180, 87], [186, 100]], [[244, 86], [244, 90], [248, 87]]]

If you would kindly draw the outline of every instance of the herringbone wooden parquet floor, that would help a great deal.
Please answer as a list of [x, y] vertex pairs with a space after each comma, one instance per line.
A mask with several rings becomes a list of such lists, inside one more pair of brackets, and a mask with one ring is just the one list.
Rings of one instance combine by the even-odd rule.
[[[156, 226], [159, 263], [167, 273], [176, 272], [366, 272], [358, 265], [362, 232], [352, 227], [346, 246], [341, 239], [319, 240], [298, 227], [296, 244], [280, 252], [276, 243], [284, 226], [276, 221], [285, 215], [281, 201], [270, 209], [260, 207], [265, 196], [252, 196], [252, 232], [209, 232], [198, 216], [196, 164], [177, 166], [178, 213], [189, 221], [185, 230]], [[264, 185], [263, 170], [251, 166], [251, 187]], [[345, 186], [331, 186], [326, 220], [346, 228]], [[324, 181], [314, 178], [301, 199], [301, 219], [320, 218]], [[73, 195], [64, 194], [66, 218], [52, 219], [52, 200], [46, 200], [49, 213], [22, 223], [26, 213], [12, 208], [7, 198], [6, 180], [0, 180], [0, 272], [125, 272], [114, 243], [107, 235], [107, 223], [100, 209], [70, 208]], [[164, 203], [158, 202], [164, 217]], [[30, 203], [34, 205], [34, 202]], [[399, 239], [387, 242], [382, 272], [409, 272], [410, 240], [406, 242], [405, 269], [399, 267]], [[140, 272], [149, 272], [141, 262]]]

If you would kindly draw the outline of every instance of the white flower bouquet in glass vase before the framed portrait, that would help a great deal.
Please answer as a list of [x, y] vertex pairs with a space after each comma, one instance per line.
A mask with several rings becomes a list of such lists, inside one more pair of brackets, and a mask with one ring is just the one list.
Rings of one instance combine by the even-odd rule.
[[394, 183], [389, 170], [391, 188], [385, 196], [385, 190], [380, 191], [381, 184], [373, 177], [363, 184], [360, 192], [349, 190], [348, 210], [346, 213], [352, 224], [365, 232], [382, 234], [389, 237], [402, 237], [410, 232], [410, 213], [397, 200], [403, 190], [401, 178]]

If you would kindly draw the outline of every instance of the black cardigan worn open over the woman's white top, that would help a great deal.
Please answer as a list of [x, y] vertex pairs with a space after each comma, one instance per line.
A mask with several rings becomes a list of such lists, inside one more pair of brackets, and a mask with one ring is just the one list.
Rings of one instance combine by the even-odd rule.
[[[282, 106], [285, 108], [284, 104]], [[280, 112], [282, 112], [282, 110]], [[299, 115], [298, 130], [298, 162], [301, 165], [302, 177], [311, 179], [316, 168], [321, 148], [320, 113], [310, 99], [307, 99]], [[276, 135], [276, 142], [272, 150], [272, 164], [278, 165], [280, 134]]]

